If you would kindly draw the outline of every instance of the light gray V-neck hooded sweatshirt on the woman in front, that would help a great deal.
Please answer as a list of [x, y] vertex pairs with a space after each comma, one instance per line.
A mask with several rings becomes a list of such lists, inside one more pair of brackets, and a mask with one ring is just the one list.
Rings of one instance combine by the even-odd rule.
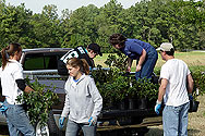
[[88, 123], [89, 118], [99, 115], [102, 98], [88, 75], [83, 74], [77, 82], [70, 76], [64, 85], [65, 102], [61, 116], [76, 123]]

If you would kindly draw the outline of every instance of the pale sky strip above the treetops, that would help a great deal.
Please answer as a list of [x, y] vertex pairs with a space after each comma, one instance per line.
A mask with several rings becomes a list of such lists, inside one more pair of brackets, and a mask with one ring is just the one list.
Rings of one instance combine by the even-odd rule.
[[[20, 5], [25, 3], [25, 8], [29, 9], [34, 13], [41, 13], [41, 10], [45, 5], [55, 4], [58, 9], [58, 14], [60, 15], [61, 11], [64, 9], [76, 10], [81, 7], [87, 7], [88, 4], [95, 4], [100, 8], [108, 3], [110, 0], [5, 0], [7, 4]], [[134, 5], [140, 0], [117, 0], [123, 5], [124, 9]]]

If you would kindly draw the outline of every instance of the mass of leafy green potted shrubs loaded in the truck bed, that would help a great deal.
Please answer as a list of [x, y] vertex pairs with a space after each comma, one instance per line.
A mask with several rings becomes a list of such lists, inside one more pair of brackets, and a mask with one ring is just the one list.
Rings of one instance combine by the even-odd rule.
[[136, 81], [134, 75], [126, 75], [125, 55], [122, 53], [110, 54], [105, 63], [109, 70], [104, 70], [98, 65], [97, 70], [92, 72], [96, 86], [104, 98], [104, 108], [129, 98], [157, 99], [158, 84], [153, 84], [148, 79]]

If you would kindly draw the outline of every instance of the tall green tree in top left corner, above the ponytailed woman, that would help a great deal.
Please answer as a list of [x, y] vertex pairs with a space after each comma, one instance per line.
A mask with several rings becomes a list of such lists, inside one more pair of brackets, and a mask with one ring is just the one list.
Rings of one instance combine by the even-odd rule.
[[[32, 12], [25, 9], [24, 4], [19, 7], [8, 5], [1, 1], [0, 11], [0, 42], [20, 42], [25, 46], [29, 42], [29, 17]], [[27, 18], [27, 20], [26, 20]]]

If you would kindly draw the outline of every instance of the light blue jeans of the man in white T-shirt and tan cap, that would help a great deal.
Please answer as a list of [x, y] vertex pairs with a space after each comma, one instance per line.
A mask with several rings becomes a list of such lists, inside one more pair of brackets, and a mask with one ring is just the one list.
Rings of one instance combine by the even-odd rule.
[[162, 111], [164, 136], [188, 136], [190, 102], [179, 107], [165, 106]]

